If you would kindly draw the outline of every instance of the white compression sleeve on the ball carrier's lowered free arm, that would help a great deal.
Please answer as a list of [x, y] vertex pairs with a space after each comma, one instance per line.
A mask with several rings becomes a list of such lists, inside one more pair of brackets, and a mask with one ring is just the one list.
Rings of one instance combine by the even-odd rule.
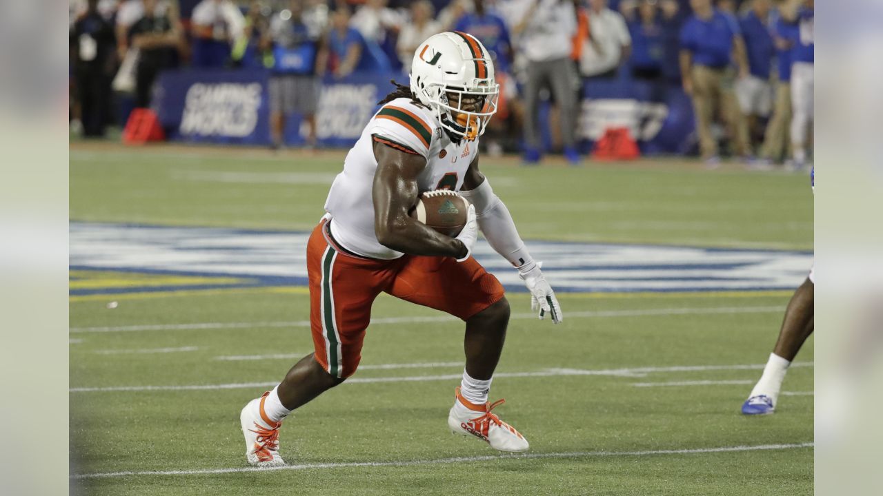
[[509, 260], [510, 264], [517, 267], [519, 273], [530, 270], [536, 265], [525, 248], [525, 242], [518, 236], [509, 208], [506, 208], [502, 200], [494, 194], [487, 177], [479, 187], [468, 192], [461, 191], [460, 194], [475, 206], [479, 229], [495, 252]]

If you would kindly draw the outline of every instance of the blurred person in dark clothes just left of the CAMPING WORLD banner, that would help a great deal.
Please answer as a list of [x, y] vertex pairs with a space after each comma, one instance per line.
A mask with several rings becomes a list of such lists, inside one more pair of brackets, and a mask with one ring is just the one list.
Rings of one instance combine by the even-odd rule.
[[135, 69], [135, 107], [150, 104], [151, 91], [161, 71], [177, 66], [181, 44], [181, 22], [177, 9], [162, 8], [158, 0], [143, 0], [143, 14], [129, 28], [129, 42], [139, 50]]

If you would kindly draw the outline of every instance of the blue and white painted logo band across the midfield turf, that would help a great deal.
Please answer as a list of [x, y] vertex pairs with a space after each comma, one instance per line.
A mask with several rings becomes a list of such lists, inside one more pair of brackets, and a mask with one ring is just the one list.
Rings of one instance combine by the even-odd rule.
[[[306, 286], [308, 232], [72, 222], [72, 270], [238, 278], [237, 282], [72, 289], [72, 295]], [[812, 253], [653, 244], [528, 241], [556, 291], [770, 291], [796, 288]], [[479, 240], [473, 254], [509, 291], [525, 291], [509, 262]]]

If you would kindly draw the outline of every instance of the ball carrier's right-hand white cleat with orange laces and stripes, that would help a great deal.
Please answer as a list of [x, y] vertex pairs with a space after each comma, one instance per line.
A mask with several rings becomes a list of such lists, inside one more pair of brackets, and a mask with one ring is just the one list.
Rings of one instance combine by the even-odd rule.
[[491, 447], [500, 451], [527, 451], [530, 444], [525, 436], [491, 412], [505, 401], [477, 405], [460, 395], [460, 388], [457, 387], [457, 400], [448, 415], [450, 431], [486, 440]]

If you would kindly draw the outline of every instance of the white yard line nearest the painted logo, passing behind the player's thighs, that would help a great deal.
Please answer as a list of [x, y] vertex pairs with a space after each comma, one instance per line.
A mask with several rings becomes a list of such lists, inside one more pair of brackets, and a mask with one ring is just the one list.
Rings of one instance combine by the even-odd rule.
[[[638, 310], [609, 310], [600, 312], [566, 312], [568, 319], [591, 319], [605, 317], [645, 317], [656, 315], [708, 315], [727, 313], [766, 313], [782, 312], [782, 306], [722, 306], [710, 308], [650, 308]], [[536, 319], [535, 313], [513, 313], [511, 319]], [[457, 321], [449, 315], [427, 315], [421, 317], [382, 317], [371, 319], [371, 324], [415, 324], [420, 322]], [[195, 322], [192, 324], [156, 324], [114, 327], [72, 327], [72, 333], [113, 333], [125, 331], [183, 331], [199, 329], [242, 329], [260, 327], [310, 327], [309, 320], [273, 322]]]

